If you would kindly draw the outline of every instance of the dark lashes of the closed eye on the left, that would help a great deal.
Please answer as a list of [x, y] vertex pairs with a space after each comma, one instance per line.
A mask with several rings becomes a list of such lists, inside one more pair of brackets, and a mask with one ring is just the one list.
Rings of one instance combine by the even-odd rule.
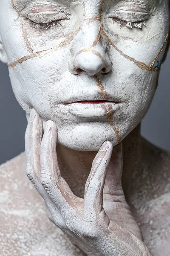
[[31, 22], [31, 26], [33, 26], [34, 29], [48, 30], [52, 27], [54, 28], [55, 26], [62, 26], [62, 24], [61, 24], [62, 20], [70, 20], [69, 15], [65, 15], [65, 17], [63, 17], [62, 19], [53, 20], [53, 21], [48, 22], [48, 23], [37, 23], [37, 22], [34, 22], [32, 20], [30, 20], [30, 22]]

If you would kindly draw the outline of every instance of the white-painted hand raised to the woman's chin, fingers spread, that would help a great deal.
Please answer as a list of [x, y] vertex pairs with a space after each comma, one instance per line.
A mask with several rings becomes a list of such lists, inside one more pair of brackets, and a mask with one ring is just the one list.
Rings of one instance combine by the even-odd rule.
[[[42, 137], [42, 120], [31, 110], [26, 130], [26, 173], [45, 200], [48, 218], [88, 256], [150, 256], [123, 194], [121, 146], [113, 154], [111, 167], [112, 144], [103, 143], [93, 161], [82, 199], [73, 194], [60, 175], [56, 143], [54, 122], [46, 122]], [[103, 196], [108, 212], [112, 207], [113, 220], [103, 209]]]

